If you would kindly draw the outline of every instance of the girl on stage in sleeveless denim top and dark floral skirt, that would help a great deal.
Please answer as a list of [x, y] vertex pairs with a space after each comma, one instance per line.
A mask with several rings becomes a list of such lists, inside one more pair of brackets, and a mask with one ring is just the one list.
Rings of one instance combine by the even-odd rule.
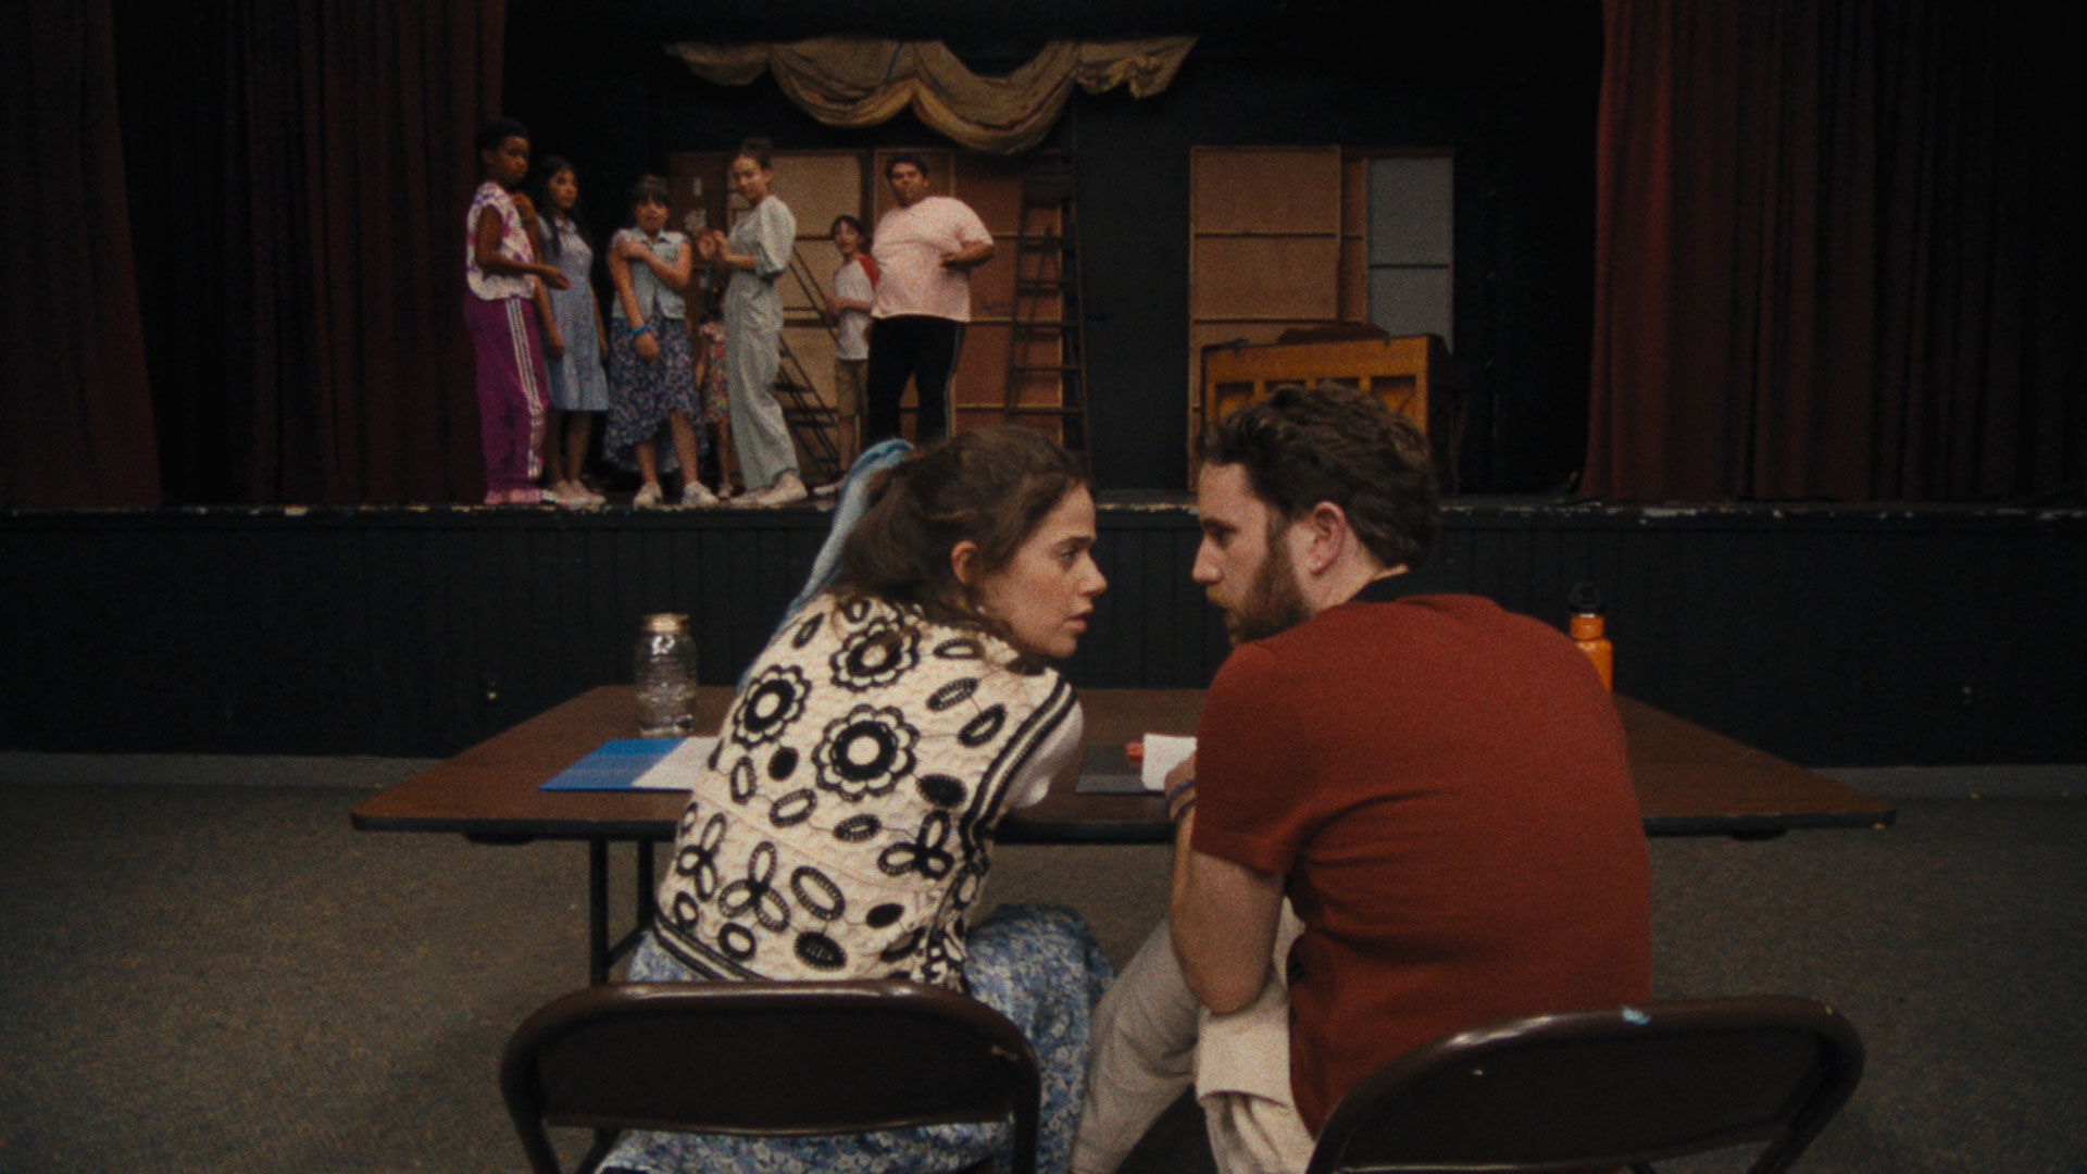
[[666, 226], [666, 180], [647, 175], [630, 190], [630, 228], [609, 240], [609, 457], [630, 468], [639, 487], [632, 506], [664, 503], [659, 489], [659, 432], [674, 441], [672, 460], [680, 468], [680, 503], [714, 506], [718, 499], [697, 480], [695, 451], [695, 368], [689, 357], [689, 324], [682, 295], [695, 267], [695, 246]]

